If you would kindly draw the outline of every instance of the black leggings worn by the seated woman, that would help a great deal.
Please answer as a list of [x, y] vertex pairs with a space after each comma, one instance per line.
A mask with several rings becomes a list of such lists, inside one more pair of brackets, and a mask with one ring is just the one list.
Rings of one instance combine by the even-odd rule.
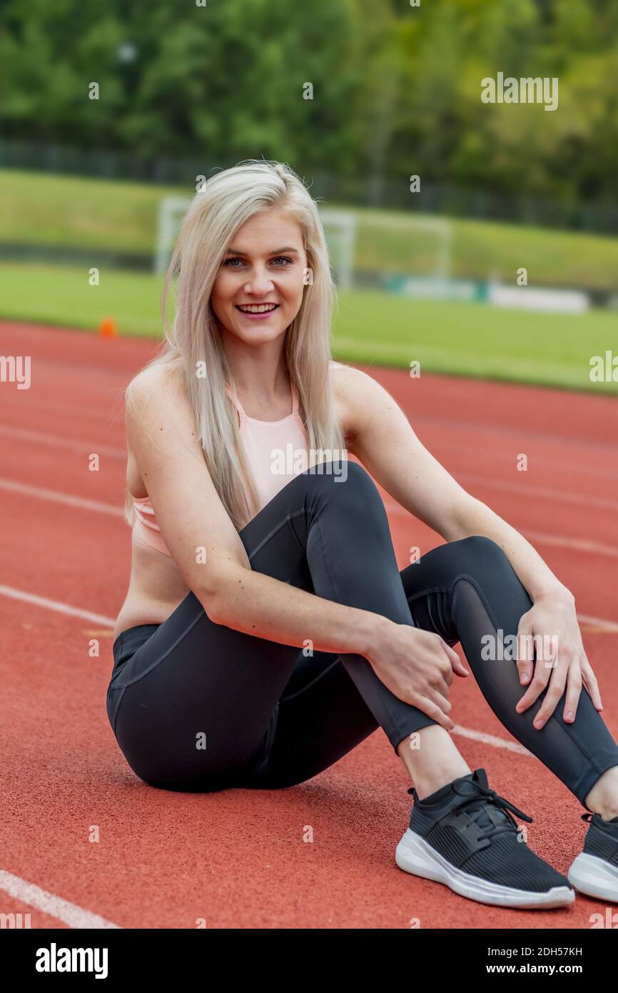
[[[461, 641], [505, 728], [585, 806], [596, 780], [618, 766], [618, 746], [585, 687], [572, 724], [562, 720], [562, 696], [537, 731], [547, 690], [518, 714], [525, 687], [515, 661], [481, 657], [481, 638], [516, 634], [532, 606], [502, 549], [483, 536], [463, 538], [400, 572], [375, 484], [357, 463], [346, 470], [344, 479], [341, 463], [302, 473], [249, 521], [239, 535], [253, 571], [433, 631], [450, 645]], [[396, 697], [362, 655], [311, 654], [215, 624], [192, 592], [163, 624], [120, 634], [113, 654], [109, 721], [131, 769], [161, 788], [290, 786], [378, 727], [397, 751], [436, 723]]]

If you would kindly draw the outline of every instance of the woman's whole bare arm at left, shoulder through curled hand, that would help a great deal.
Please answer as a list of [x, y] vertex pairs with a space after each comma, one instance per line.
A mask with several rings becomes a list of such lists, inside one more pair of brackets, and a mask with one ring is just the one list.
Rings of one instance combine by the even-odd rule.
[[136, 400], [127, 441], [161, 533], [207, 616], [257, 638], [364, 655], [396, 696], [451, 730], [448, 687], [453, 671], [467, 675], [457, 653], [432, 632], [254, 572], [208, 473], [182, 386], [149, 370]]

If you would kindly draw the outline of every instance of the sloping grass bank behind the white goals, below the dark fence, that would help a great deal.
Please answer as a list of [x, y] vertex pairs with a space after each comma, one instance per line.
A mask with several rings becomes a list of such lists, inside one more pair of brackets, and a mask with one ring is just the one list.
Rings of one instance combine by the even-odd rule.
[[[0, 241], [151, 253], [159, 202], [194, 191], [139, 183], [0, 170]], [[324, 207], [336, 208], [336, 204]], [[349, 208], [344, 208], [349, 210]], [[394, 274], [431, 271], [435, 235], [410, 227], [423, 214], [357, 209], [355, 264]], [[394, 217], [397, 226], [374, 224]], [[403, 223], [403, 226], [402, 226]], [[521, 224], [451, 220], [451, 275], [515, 282], [525, 266], [531, 285], [606, 290], [616, 285], [618, 239]], [[96, 264], [91, 263], [91, 264]]]

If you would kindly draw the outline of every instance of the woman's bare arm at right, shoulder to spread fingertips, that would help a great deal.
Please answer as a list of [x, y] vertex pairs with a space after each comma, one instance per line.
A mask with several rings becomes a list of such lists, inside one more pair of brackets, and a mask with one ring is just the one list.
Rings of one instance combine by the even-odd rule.
[[[352, 375], [354, 380], [352, 380]], [[566, 690], [562, 716], [574, 720], [582, 681], [595, 707], [602, 709], [598, 683], [587, 659], [577, 624], [573, 595], [533, 546], [481, 500], [466, 493], [421, 444], [401, 407], [371, 376], [350, 373], [347, 401], [354, 431], [349, 443], [372, 476], [402, 506], [447, 541], [483, 534], [509, 559], [533, 607], [520, 618], [517, 667], [529, 687], [517, 705], [526, 710], [549, 685], [535, 719], [541, 728]], [[533, 661], [526, 639], [552, 639], [556, 656], [544, 665]], [[541, 643], [544, 643], [543, 640]]]

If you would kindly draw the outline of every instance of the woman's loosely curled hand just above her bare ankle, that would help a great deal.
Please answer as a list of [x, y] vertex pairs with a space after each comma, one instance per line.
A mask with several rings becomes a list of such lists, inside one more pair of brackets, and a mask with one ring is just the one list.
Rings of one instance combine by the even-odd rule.
[[455, 725], [448, 717], [448, 687], [453, 672], [458, 676], [469, 673], [457, 652], [439, 635], [389, 622], [365, 657], [395, 696], [452, 731]]

